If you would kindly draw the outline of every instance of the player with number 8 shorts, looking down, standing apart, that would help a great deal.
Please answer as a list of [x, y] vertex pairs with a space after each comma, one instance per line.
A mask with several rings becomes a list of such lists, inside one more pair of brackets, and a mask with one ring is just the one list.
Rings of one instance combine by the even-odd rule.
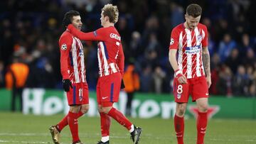
[[[185, 23], [171, 31], [169, 62], [174, 69], [174, 96], [176, 115], [174, 126], [178, 144], [183, 144], [184, 113], [188, 96], [198, 106], [197, 144], [203, 144], [206, 133], [208, 111], [208, 88], [210, 79], [210, 56], [208, 51], [208, 31], [199, 23], [202, 9], [198, 4], [190, 4], [186, 9]], [[177, 57], [177, 59], [176, 59]]]

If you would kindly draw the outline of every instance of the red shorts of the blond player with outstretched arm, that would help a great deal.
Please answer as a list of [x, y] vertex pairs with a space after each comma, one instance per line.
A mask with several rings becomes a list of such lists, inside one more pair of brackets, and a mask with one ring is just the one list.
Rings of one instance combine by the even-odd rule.
[[97, 81], [97, 102], [117, 102], [122, 76], [119, 72], [100, 77]]

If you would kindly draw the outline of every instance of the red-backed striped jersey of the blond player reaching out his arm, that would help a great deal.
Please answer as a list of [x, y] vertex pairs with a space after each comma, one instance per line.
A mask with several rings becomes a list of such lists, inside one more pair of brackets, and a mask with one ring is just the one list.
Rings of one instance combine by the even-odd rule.
[[122, 50], [121, 37], [114, 26], [99, 28], [97, 31], [82, 33], [69, 25], [68, 29], [80, 40], [97, 40], [97, 58], [100, 77], [124, 73], [124, 52]]

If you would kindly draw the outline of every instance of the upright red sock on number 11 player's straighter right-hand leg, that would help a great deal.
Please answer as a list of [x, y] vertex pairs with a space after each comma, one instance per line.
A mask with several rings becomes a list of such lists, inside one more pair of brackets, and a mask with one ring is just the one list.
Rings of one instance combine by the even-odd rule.
[[73, 142], [80, 140], [78, 136], [78, 113], [68, 112], [68, 125], [70, 127]]

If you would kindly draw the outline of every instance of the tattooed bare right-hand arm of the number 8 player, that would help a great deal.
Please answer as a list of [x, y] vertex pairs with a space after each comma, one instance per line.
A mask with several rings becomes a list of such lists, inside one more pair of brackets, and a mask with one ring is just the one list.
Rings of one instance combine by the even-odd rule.
[[211, 78], [210, 78], [210, 53], [208, 50], [208, 47], [204, 47], [202, 51], [202, 60], [203, 60], [203, 67], [206, 71], [206, 80], [208, 87], [210, 87], [211, 84]]

